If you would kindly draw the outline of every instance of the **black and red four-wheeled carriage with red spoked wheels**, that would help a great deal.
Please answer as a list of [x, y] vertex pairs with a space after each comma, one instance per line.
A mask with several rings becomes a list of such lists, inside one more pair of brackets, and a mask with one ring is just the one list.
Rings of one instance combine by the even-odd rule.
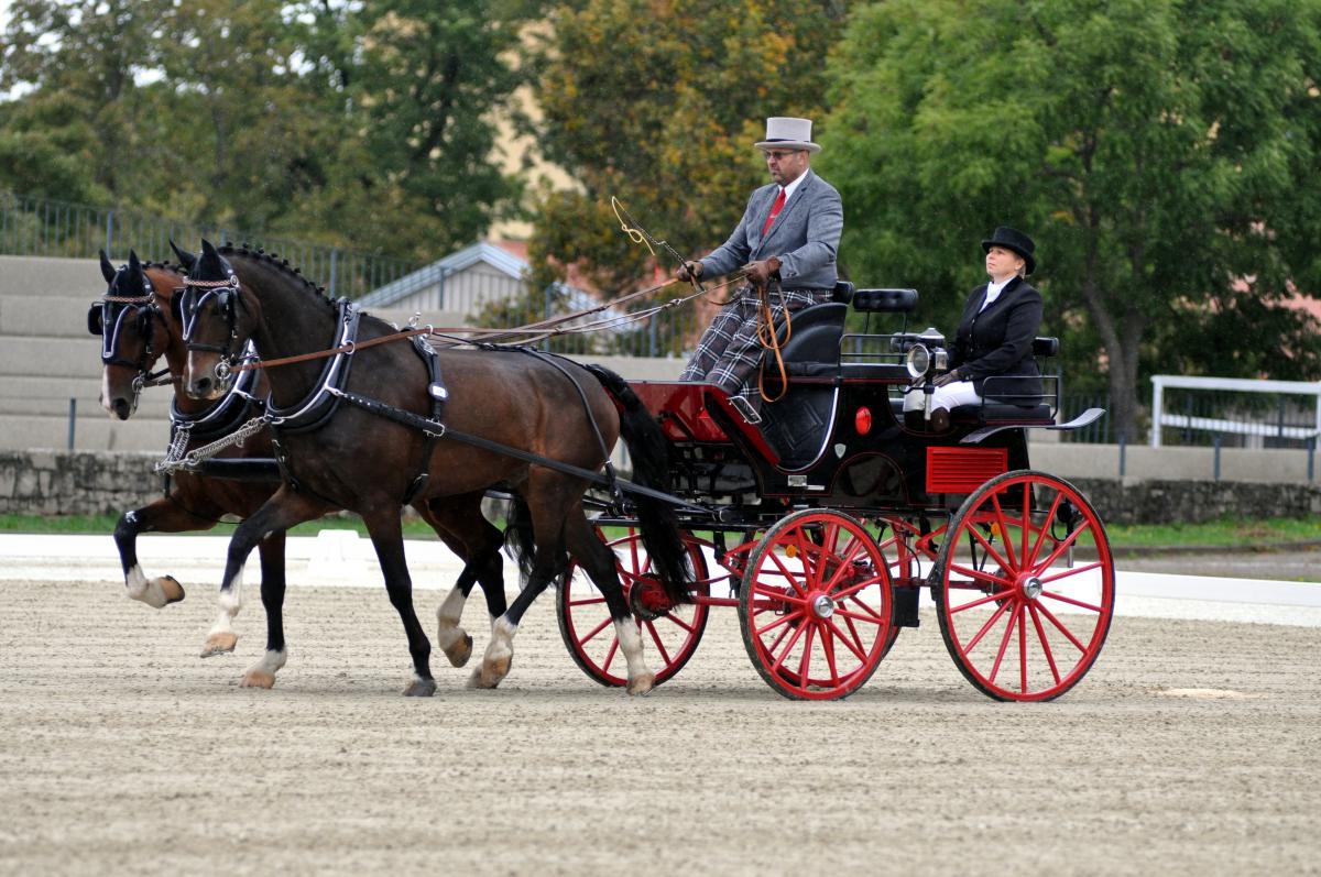
[[[1049, 700], [1090, 670], [1114, 612], [1104, 527], [1069, 482], [1029, 468], [1028, 429], [1057, 424], [1054, 338], [1037, 338], [1040, 395], [997, 394], [955, 409], [933, 433], [905, 413], [911, 388], [943, 370], [943, 338], [908, 332], [911, 289], [840, 283], [834, 301], [797, 313], [783, 367], [764, 375], [764, 421], [750, 425], [711, 384], [633, 382], [668, 442], [672, 490], [697, 586], [674, 605], [651, 571], [627, 501], [598, 494], [596, 524], [614, 548], [643, 639], [672, 678], [709, 612], [734, 608], [748, 656], [793, 699], [861, 687], [919, 594], [967, 680], [999, 700]], [[849, 309], [865, 314], [845, 332]], [[859, 320], [859, 318], [855, 318]], [[871, 332], [872, 322], [897, 330]], [[896, 326], [890, 326], [894, 329]], [[783, 329], [782, 329], [783, 332]], [[911, 405], [910, 405], [911, 407]], [[604, 598], [571, 569], [557, 592], [564, 643], [583, 671], [622, 685]]]

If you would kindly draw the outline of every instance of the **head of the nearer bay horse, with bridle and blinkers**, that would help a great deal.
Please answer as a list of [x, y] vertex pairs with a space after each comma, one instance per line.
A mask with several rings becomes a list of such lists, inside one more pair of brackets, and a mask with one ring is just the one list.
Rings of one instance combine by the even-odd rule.
[[184, 390], [193, 399], [218, 399], [234, 380], [234, 361], [256, 329], [258, 305], [243, 295], [232, 265], [202, 242], [184, 292], [172, 301], [188, 349]]

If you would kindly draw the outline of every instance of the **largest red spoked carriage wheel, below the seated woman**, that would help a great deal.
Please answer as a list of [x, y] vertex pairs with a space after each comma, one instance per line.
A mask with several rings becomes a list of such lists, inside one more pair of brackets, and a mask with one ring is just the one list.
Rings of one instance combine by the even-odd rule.
[[[1096, 510], [1062, 478], [1011, 472], [964, 501], [933, 589], [954, 663], [997, 700], [1050, 700], [1087, 675], [1115, 610]], [[1095, 559], [1070, 567], [1074, 547]]]

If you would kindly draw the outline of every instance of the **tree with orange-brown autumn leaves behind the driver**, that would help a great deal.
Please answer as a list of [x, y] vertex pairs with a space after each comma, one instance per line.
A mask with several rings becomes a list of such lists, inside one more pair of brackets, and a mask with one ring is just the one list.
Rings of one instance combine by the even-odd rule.
[[[540, 144], [581, 189], [543, 194], [534, 287], [576, 264], [600, 288], [651, 281], [620, 232], [618, 197], [684, 254], [721, 243], [766, 182], [752, 144], [773, 115], [820, 119], [824, 58], [843, 4], [589, 0], [551, 15], [539, 53]], [[660, 268], [674, 265], [660, 258]]]

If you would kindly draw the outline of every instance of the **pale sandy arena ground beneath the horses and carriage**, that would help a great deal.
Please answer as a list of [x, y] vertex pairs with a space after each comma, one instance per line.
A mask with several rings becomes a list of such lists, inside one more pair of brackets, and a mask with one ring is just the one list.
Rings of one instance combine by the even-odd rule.
[[[716, 610], [630, 699], [581, 675], [546, 598], [498, 691], [445, 664], [413, 700], [373, 588], [292, 588], [289, 664], [239, 688], [247, 597], [238, 655], [201, 660], [202, 586], [156, 612], [119, 582], [0, 582], [0, 872], [1321, 870], [1316, 627], [1116, 617], [1073, 692], [1018, 705], [972, 689], [927, 614], [856, 696], [804, 704]], [[428, 630], [439, 598], [417, 594]]]

